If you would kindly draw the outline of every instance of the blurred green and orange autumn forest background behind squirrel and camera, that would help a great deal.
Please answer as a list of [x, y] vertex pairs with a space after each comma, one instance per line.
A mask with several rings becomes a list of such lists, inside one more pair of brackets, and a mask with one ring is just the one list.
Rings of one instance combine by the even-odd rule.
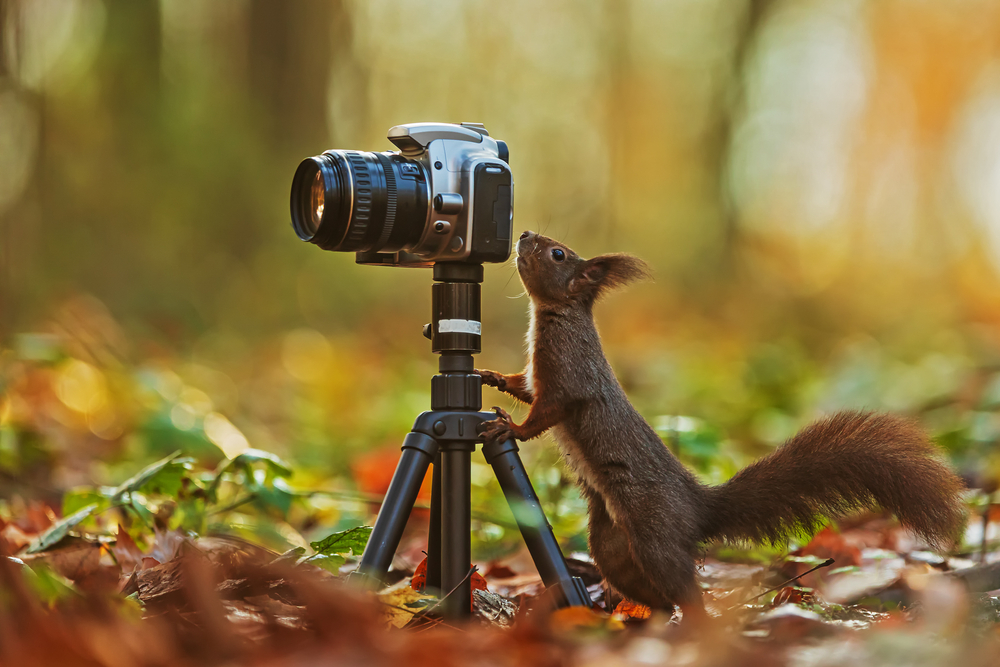
[[[288, 193], [302, 158], [427, 120], [508, 143], [516, 230], [650, 262], [598, 322], [706, 479], [843, 407], [996, 467], [995, 0], [0, 0], [0, 45], [5, 502], [253, 447], [325, 494], [270, 507], [275, 536], [369, 517], [429, 406], [430, 273], [300, 242]], [[513, 372], [527, 302], [486, 276], [477, 363]], [[526, 458], [582, 545], [548, 444]]]

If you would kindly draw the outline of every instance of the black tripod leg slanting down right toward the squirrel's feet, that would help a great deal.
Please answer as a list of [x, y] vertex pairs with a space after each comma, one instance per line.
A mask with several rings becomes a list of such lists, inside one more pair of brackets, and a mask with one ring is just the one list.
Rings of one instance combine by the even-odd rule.
[[483, 445], [486, 462], [493, 466], [493, 472], [510, 504], [531, 559], [535, 561], [535, 567], [542, 576], [542, 582], [546, 588], [555, 589], [556, 600], [560, 605], [589, 607], [587, 587], [579, 577], [570, 575], [559, 543], [552, 533], [552, 526], [545, 518], [538, 495], [531, 486], [531, 479], [517, 451], [517, 443], [513, 439]]

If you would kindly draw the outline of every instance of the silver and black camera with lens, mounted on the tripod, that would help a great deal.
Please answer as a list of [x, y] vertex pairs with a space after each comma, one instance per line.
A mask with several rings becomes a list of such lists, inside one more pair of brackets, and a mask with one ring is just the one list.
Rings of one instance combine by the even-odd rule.
[[389, 130], [399, 150], [329, 150], [292, 179], [292, 227], [358, 264], [432, 266], [510, 257], [513, 176], [507, 145], [480, 123]]

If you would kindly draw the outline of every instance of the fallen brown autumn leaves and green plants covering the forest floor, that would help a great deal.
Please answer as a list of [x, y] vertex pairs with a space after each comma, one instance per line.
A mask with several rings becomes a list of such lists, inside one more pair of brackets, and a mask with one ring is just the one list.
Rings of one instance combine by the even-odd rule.
[[[0, 664], [974, 667], [994, 664], [1000, 649], [1000, 557], [979, 564], [981, 554], [922, 551], [881, 517], [828, 527], [768, 562], [708, 552], [700, 580], [712, 621], [691, 629], [605, 590], [585, 554], [568, 562], [590, 609], [556, 609], [516, 554], [473, 568], [473, 617], [460, 623], [441, 616], [440, 593], [424, 590], [426, 561], [377, 593], [354, 584], [370, 527], [278, 553], [201, 535], [157, 505], [157, 494], [188, 489], [207, 513], [213, 500], [228, 502], [213, 499], [226, 479], [263, 488], [289, 474], [264, 454], [201, 478], [173, 454], [63, 518], [37, 504], [0, 518]], [[101, 520], [110, 515], [120, 519], [113, 527]]]

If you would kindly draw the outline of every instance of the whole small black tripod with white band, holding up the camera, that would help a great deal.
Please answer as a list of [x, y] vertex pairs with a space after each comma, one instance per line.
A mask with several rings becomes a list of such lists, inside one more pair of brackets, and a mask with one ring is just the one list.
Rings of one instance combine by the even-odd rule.
[[[481, 412], [482, 379], [473, 372], [480, 347], [481, 264], [438, 263], [432, 288], [433, 323], [424, 335], [440, 354], [431, 379], [431, 411], [417, 417], [403, 440], [403, 454], [382, 502], [359, 571], [381, 581], [389, 571], [403, 528], [417, 499], [427, 466], [434, 464], [427, 537], [427, 587], [451, 595], [444, 603], [452, 618], [468, 616], [472, 560], [471, 463], [478, 427], [495, 419]], [[528, 473], [511, 439], [483, 445], [486, 462], [500, 482], [542, 582], [557, 604], [590, 606], [583, 581], [570, 575]], [[453, 592], [452, 592], [453, 591]]]

